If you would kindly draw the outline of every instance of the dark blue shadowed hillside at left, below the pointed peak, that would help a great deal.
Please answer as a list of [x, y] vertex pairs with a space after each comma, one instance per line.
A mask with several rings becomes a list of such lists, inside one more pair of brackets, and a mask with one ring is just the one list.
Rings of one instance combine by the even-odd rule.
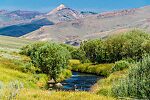
[[4, 28], [0, 28], [0, 35], [19, 37], [29, 32], [35, 31], [45, 25], [54, 25], [48, 19], [33, 20], [26, 24], [17, 24]]

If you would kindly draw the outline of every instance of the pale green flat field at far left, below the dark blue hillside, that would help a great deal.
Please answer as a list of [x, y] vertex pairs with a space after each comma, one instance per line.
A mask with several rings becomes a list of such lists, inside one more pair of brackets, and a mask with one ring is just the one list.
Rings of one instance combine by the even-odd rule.
[[23, 38], [0, 36], [0, 50], [16, 51], [31, 42]]

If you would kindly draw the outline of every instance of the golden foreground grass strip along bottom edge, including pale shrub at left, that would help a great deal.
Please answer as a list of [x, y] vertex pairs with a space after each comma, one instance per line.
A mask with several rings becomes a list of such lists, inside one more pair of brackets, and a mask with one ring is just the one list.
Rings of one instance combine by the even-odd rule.
[[14, 81], [9, 85], [0, 84], [2, 100], [115, 100], [113, 97], [100, 96], [88, 92], [49, 91], [23, 88], [22, 83]]

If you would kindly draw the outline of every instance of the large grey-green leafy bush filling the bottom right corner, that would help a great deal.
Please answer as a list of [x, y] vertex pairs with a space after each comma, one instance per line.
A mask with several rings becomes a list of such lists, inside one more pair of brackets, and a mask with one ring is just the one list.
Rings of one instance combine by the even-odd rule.
[[127, 77], [113, 84], [115, 97], [150, 99], [150, 56], [129, 69]]

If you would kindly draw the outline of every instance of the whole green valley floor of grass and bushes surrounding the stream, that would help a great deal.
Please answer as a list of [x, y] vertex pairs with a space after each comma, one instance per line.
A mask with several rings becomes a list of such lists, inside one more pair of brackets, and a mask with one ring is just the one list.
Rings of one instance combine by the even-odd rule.
[[[133, 30], [105, 40], [84, 41], [79, 48], [30, 43], [0, 36], [0, 99], [148, 100], [150, 97], [150, 35], [145, 32]], [[71, 70], [104, 78], [89, 92], [47, 89], [52, 77], [49, 74], [59, 73], [53, 77], [62, 81], [71, 76]]]

